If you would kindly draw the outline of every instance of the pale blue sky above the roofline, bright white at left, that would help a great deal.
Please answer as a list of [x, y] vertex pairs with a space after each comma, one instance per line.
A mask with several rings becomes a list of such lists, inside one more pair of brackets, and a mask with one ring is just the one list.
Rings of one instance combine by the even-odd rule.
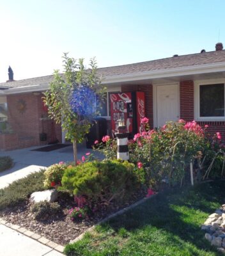
[[0, 0], [0, 82], [47, 76], [63, 52], [99, 67], [225, 48], [224, 0]]

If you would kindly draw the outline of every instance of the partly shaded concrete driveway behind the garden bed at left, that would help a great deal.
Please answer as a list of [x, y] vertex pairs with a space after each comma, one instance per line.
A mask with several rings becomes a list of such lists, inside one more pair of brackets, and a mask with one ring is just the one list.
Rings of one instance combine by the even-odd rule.
[[[46, 147], [46, 146], [43, 146]], [[13, 159], [14, 166], [10, 170], [0, 172], [0, 189], [8, 186], [14, 180], [26, 177], [29, 173], [38, 172], [40, 168], [45, 168], [51, 164], [59, 163], [60, 161], [73, 161], [73, 147], [61, 148], [50, 152], [31, 151], [40, 147], [29, 147], [11, 151], [0, 151], [0, 156], [10, 156]], [[81, 159], [87, 152], [95, 154], [96, 157], [102, 158], [98, 152], [93, 152], [92, 149], [79, 145], [77, 147], [78, 158]]]

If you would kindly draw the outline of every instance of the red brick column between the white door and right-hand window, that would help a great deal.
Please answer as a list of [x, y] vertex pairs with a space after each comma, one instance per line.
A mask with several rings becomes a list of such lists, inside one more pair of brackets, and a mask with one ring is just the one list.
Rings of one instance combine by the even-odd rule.
[[194, 120], [194, 82], [180, 82], [180, 118]]

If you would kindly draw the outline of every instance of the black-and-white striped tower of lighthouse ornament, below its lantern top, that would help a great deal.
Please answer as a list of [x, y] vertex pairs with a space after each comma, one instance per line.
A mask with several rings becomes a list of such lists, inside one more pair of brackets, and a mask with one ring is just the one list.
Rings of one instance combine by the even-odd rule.
[[[120, 131], [118, 129], [118, 131]], [[116, 133], [117, 138], [117, 159], [129, 160], [129, 151], [128, 151], [128, 132]]]

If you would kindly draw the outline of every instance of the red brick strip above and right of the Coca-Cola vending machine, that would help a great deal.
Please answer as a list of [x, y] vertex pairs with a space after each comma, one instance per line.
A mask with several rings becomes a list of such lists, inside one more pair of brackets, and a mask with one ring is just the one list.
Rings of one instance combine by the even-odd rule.
[[153, 129], [153, 86], [152, 84], [134, 85], [126, 84], [121, 86], [121, 92], [144, 92], [145, 93], [145, 113], [150, 120], [150, 128]]

